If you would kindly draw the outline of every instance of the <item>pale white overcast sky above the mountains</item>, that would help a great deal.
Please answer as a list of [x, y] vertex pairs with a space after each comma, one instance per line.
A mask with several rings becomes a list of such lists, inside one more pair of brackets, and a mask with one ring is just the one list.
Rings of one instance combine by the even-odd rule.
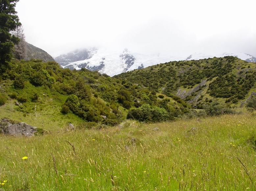
[[26, 40], [53, 57], [77, 48], [256, 56], [255, 0], [20, 0]]

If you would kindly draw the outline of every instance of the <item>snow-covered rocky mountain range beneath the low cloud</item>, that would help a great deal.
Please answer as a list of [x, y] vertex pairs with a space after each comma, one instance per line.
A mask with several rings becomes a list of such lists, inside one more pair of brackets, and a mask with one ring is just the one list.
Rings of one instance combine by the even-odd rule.
[[123, 51], [111, 51], [103, 48], [90, 48], [76, 50], [67, 54], [62, 54], [55, 58], [64, 68], [81, 69], [87, 68], [91, 71], [99, 71], [109, 76], [114, 76], [122, 72], [141, 69], [144, 67], [179, 60], [199, 60], [204, 58], [235, 56], [247, 62], [256, 62], [256, 58], [245, 53], [231, 53], [219, 55], [206, 55], [202, 53], [194, 53], [190, 56], [172, 56], [172, 55], [145, 55], [130, 52], [127, 48]]

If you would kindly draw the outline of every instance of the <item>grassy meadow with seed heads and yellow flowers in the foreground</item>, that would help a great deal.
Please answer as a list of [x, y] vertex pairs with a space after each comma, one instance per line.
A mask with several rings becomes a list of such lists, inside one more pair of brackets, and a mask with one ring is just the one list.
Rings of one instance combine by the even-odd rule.
[[121, 127], [0, 136], [1, 188], [256, 190], [255, 116]]

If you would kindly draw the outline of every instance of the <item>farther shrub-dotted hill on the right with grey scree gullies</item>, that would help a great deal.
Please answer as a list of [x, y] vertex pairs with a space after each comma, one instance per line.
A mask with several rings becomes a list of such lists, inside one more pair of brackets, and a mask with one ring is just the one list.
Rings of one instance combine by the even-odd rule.
[[225, 107], [243, 106], [256, 90], [255, 76], [256, 63], [226, 56], [168, 62], [114, 77], [166, 95], [177, 95], [200, 109], [212, 101]]

